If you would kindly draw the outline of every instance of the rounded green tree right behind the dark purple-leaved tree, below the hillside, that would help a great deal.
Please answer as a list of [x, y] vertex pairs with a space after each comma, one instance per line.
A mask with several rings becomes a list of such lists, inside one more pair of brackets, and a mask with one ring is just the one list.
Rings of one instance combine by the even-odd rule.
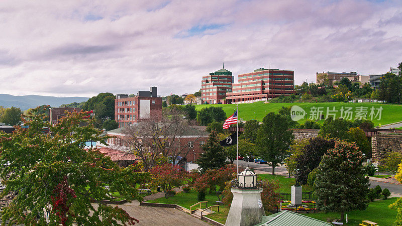
[[323, 123], [319, 135], [327, 136], [328, 138], [339, 138], [341, 140], [349, 139], [349, 126], [348, 121], [343, 119], [334, 120], [332, 117], [328, 117]]

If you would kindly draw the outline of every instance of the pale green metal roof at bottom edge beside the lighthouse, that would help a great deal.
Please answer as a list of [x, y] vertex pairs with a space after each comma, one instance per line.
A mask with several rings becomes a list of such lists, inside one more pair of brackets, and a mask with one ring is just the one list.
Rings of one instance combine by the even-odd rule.
[[314, 219], [309, 216], [290, 211], [277, 212], [269, 216], [263, 216], [262, 221], [254, 226], [326, 226], [331, 223]]

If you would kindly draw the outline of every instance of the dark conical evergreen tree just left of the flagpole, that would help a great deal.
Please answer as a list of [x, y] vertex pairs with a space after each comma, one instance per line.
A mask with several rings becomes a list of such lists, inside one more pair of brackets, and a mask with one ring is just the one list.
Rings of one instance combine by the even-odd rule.
[[204, 153], [200, 154], [196, 163], [205, 172], [207, 169], [219, 169], [227, 164], [223, 147], [219, 144], [216, 131], [212, 131], [207, 144], [203, 146]]

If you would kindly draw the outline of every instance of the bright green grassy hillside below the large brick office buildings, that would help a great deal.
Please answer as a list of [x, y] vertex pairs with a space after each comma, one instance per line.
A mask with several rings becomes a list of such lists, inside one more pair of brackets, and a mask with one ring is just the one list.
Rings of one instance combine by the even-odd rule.
[[[262, 121], [262, 118], [265, 116], [265, 110], [267, 112], [277, 112], [279, 109], [282, 108], [282, 106], [292, 106], [292, 105], [297, 105], [302, 107], [306, 113], [307, 116], [309, 117], [309, 112], [311, 107], [323, 107], [323, 115], [327, 115], [327, 107], [335, 107], [335, 110], [338, 110], [336, 117], [340, 117], [340, 109], [341, 107], [353, 107], [352, 111], [356, 111], [356, 107], [367, 107], [368, 114], [367, 117], [369, 117], [370, 114], [370, 108], [373, 106], [374, 108], [379, 108], [382, 107], [382, 112], [381, 112], [381, 120], [378, 120], [377, 118], [373, 119], [373, 123], [375, 126], [378, 126], [378, 124], [385, 125], [385, 124], [390, 124], [390, 123], [395, 123], [395, 122], [401, 122], [402, 121], [402, 114], [398, 114], [400, 110], [402, 110], [401, 105], [391, 105], [391, 104], [380, 104], [380, 103], [338, 103], [338, 102], [324, 102], [324, 103], [264, 103], [263, 101], [259, 102], [254, 102], [254, 103], [241, 103], [239, 104], [239, 118], [243, 120], [252, 120], [254, 119], [254, 112], [256, 112], [256, 120]], [[236, 104], [205, 104], [205, 105], [195, 105], [195, 109], [199, 110], [203, 107], [208, 107], [208, 106], [218, 106], [222, 107], [225, 112], [226, 116], [229, 117], [233, 114], [234, 109], [236, 108]], [[375, 111], [376, 112], [376, 111]], [[353, 115], [353, 118], [355, 115]], [[302, 119], [298, 121], [298, 123], [304, 123], [306, 121], [305, 119]], [[322, 123], [323, 121], [319, 121]]]

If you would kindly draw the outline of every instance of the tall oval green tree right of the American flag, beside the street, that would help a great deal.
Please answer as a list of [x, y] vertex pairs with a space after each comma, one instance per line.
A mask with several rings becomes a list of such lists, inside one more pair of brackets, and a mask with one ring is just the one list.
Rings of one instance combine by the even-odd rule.
[[272, 174], [275, 166], [286, 158], [293, 138], [285, 116], [269, 112], [262, 120], [256, 140], [257, 153], [272, 163]]

